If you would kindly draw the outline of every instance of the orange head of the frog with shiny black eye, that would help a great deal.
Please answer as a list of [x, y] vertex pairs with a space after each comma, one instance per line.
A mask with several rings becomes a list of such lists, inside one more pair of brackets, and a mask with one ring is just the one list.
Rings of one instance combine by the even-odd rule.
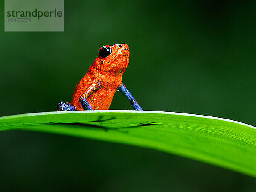
[[122, 76], [129, 63], [130, 51], [126, 44], [105, 45], [99, 49], [96, 62], [100, 73], [111, 76]]

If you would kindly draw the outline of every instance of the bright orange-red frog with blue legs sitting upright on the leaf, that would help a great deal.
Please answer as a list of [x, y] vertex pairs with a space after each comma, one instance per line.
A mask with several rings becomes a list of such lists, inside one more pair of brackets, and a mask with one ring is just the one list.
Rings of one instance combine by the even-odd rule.
[[122, 82], [129, 56], [126, 44], [101, 47], [98, 57], [76, 85], [72, 101], [60, 102], [57, 111], [107, 110], [117, 90], [127, 97], [135, 110], [143, 110]]

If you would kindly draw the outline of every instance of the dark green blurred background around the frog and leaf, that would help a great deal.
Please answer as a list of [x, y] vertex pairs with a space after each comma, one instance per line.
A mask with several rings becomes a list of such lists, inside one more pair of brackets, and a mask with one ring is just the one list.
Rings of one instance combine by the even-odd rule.
[[[256, 125], [255, 1], [65, 1], [65, 32], [4, 32], [0, 116], [55, 111], [101, 46], [126, 43], [144, 110]], [[132, 109], [116, 93], [111, 109]], [[0, 133], [3, 191], [255, 191], [256, 179], [182, 157], [81, 138]]]

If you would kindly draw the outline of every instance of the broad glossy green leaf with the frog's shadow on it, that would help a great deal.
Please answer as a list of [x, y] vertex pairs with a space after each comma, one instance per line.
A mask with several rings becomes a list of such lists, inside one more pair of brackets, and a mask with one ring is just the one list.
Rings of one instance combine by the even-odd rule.
[[0, 131], [42, 131], [151, 148], [256, 177], [256, 128], [160, 111], [64, 111], [0, 118]]

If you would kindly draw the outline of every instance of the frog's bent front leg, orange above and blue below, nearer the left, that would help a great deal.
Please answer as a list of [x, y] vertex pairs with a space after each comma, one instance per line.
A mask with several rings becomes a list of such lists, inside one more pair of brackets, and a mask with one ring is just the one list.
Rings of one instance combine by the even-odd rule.
[[90, 106], [89, 102], [87, 101], [87, 97], [90, 96], [93, 92], [98, 90], [103, 85], [103, 80], [100, 77], [97, 77], [96, 79], [93, 79], [92, 83], [90, 84], [90, 87], [84, 92], [84, 94], [79, 98], [79, 102], [82, 105], [84, 110], [93, 110], [93, 108]]

